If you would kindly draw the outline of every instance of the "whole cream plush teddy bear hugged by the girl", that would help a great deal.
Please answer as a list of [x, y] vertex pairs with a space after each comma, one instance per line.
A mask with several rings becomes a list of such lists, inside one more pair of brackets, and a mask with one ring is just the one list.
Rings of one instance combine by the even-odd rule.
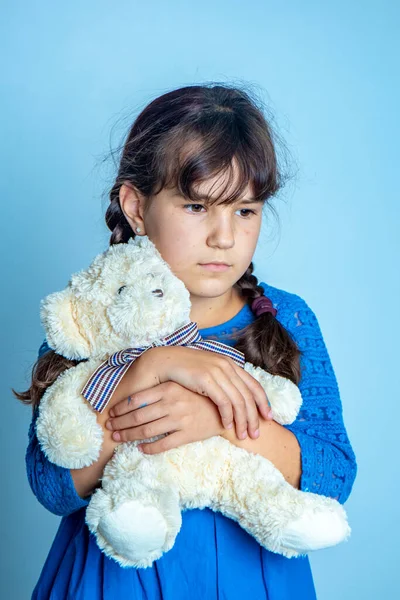
[[[185, 285], [146, 236], [98, 255], [87, 270], [72, 275], [66, 289], [44, 298], [40, 313], [50, 347], [83, 361], [62, 372], [39, 405], [41, 447], [66, 468], [98, 459], [103, 430], [96, 410], [104, 409], [135, 351], [165, 345], [185, 327], [197, 332], [189, 346], [215, 350], [190, 321]], [[219, 345], [236, 353], [236, 360], [242, 357], [244, 369], [266, 391], [274, 419], [293, 422], [301, 405], [298, 387]], [[96, 387], [96, 373], [103, 373], [103, 386]], [[141, 453], [138, 443], [117, 447], [86, 510], [99, 547], [121, 566], [148, 567], [171, 549], [181, 511], [191, 508], [220, 511], [262, 546], [287, 557], [332, 546], [350, 533], [336, 500], [295, 489], [269, 460], [221, 436], [155, 455]]]

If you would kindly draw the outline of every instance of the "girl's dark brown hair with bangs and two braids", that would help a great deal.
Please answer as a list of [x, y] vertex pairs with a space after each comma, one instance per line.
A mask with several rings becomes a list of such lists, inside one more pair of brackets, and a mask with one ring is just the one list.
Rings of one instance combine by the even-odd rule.
[[[275, 213], [268, 200], [285, 183], [278, 164], [278, 140], [279, 147], [286, 150], [264, 116], [261, 102], [244, 89], [226, 84], [193, 85], [156, 98], [135, 119], [122, 147], [105, 215], [112, 232], [110, 245], [126, 243], [135, 236], [121, 210], [122, 184], [134, 186], [148, 203], [164, 188], [176, 188], [196, 203], [199, 199], [195, 184], [227, 172], [227, 186], [219, 196], [208, 198], [208, 205], [235, 202], [249, 185], [253, 198]], [[233, 162], [238, 167], [237, 182], [233, 192], [221, 201], [231, 187]], [[251, 262], [235, 283], [249, 304], [264, 293], [253, 268]], [[239, 332], [235, 347], [255, 366], [299, 382], [300, 350], [271, 313], [262, 314]], [[13, 392], [22, 402], [35, 407], [58, 375], [77, 363], [50, 350], [36, 361], [30, 389], [20, 394]]]

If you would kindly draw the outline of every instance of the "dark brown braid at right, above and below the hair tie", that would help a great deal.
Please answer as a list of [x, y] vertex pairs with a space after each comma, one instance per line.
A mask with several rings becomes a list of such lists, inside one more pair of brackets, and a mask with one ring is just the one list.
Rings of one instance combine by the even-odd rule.
[[[253, 300], [264, 295], [264, 288], [253, 275], [252, 262], [235, 285], [250, 305]], [[243, 352], [246, 361], [254, 366], [266, 369], [272, 375], [287, 377], [296, 385], [299, 383], [301, 351], [272, 313], [262, 313], [245, 327], [235, 348]]]

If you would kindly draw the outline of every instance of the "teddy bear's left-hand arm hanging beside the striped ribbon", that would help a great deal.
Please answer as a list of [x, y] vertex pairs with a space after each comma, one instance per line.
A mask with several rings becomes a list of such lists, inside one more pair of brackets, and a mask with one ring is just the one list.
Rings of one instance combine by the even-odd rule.
[[80, 469], [99, 458], [103, 429], [81, 395], [98, 365], [89, 360], [63, 371], [40, 401], [36, 435], [48, 459], [61, 467]]

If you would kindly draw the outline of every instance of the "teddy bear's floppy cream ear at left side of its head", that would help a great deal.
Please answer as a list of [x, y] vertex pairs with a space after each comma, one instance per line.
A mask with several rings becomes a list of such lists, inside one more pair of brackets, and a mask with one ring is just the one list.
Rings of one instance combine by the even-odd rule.
[[40, 319], [51, 348], [70, 360], [90, 354], [89, 342], [81, 335], [71, 288], [55, 292], [40, 301]]

